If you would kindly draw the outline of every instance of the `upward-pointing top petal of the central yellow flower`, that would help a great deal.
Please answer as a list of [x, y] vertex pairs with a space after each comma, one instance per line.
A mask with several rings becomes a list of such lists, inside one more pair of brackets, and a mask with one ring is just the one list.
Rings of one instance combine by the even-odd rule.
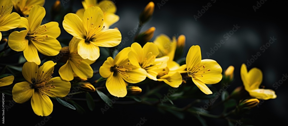
[[121, 66], [126, 64], [129, 59], [128, 59], [128, 53], [131, 51], [130, 47], [126, 47], [122, 49], [114, 58], [114, 64]]

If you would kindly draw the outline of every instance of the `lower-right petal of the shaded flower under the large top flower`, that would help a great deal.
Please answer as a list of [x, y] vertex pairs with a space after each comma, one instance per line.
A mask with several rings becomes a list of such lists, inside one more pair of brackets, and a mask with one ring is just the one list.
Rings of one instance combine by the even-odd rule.
[[71, 68], [78, 77], [92, 78], [93, 69], [88, 63], [84, 61], [78, 61], [78, 59], [71, 59], [70, 61]]

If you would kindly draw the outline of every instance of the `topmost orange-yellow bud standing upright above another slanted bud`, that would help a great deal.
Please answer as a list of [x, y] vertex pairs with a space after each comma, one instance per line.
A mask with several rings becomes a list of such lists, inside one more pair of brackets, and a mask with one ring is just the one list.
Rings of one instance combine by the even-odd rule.
[[154, 3], [151, 1], [149, 2], [146, 7], [144, 8], [144, 10], [141, 12], [140, 14], [140, 22], [141, 23], [146, 23], [148, 20], [150, 20], [150, 18], [152, 17], [153, 15], [153, 12], [154, 12]]

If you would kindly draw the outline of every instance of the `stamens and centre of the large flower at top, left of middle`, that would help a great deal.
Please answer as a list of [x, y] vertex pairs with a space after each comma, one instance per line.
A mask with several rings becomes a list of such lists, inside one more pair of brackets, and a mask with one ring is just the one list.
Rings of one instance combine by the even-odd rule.
[[86, 44], [89, 44], [90, 41], [96, 42], [96, 39], [94, 38], [96, 36], [96, 33], [100, 32], [100, 31], [103, 31], [103, 29], [105, 28], [105, 26], [103, 26], [103, 28], [99, 31], [99, 29], [100, 29], [100, 27], [101, 27], [101, 25], [103, 23], [103, 20], [104, 19], [102, 19], [102, 21], [101, 21], [101, 23], [99, 25], [97, 25], [97, 24], [94, 25], [94, 22], [92, 22], [92, 16], [91, 16], [90, 19], [87, 18], [87, 22], [86, 22], [86, 25], [87, 25], [86, 26], [87, 27], [87, 36], [84, 37]]

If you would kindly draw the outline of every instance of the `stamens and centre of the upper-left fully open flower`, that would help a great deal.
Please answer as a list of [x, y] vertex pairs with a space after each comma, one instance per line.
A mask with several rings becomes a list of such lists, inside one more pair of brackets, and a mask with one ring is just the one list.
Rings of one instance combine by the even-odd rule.
[[43, 25], [42, 27], [39, 27], [39, 29], [37, 29], [33, 33], [28, 31], [28, 33], [25, 36], [25, 38], [28, 39], [28, 40], [34, 40], [34, 41], [37, 41], [37, 42], [40, 42], [40, 40], [44, 41], [45, 37], [48, 37], [48, 35], [43, 35], [43, 33], [45, 33], [47, 31], [46, 27], [47, 27], [46, 25]]

